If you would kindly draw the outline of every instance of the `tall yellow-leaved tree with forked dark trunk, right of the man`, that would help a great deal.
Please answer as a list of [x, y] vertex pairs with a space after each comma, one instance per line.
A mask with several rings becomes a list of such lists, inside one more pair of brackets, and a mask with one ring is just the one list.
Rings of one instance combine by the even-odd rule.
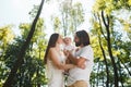
[[[124, 3], [123, 3], [124, 2]], [[114, 66], [114, 76], [115, 76], [115, 84], [112, 84], [112, 86], [115, 87], [119, 87], [119, 83], [122, 84], [121, 80], [119, 80], [120, 76], [119, 76], [119, 69], [121, 65], [118, 64], [118, 60], [120, 58], [117, 57], [117, 54], [120, 53], [119, 50], [115, 49], [116, 45], [116, 38], [117, 35], [114, 35], [116, 33], [116, 26], [118, 25], [118, 16], [116, 15], [116, 13], [118, 13], [120, 10], [130, 10], [130, 4], [128, 3], [128, 1], [124, 0], [117, 0], [117, 1], [110, 1], [110, 0], [97, 0], [94, 4], [93, 8], [93, 14], [94, 14], [94, 20], [93, 20], [93, 25], [95, 25], [95, 27], [93, 27], [95, 32], [95, 35], [97, 35], [97, 39], [99, 40], [99, 42], [104, 44], [104, 41], [106, 41], [106, 47], [107, 49], [105, 49], [105, 51], [108, 53], [106, 54], [106, 57], [110, 57], [112, 66]], [[121, 8], [122, 7], [122, 8]], [[116, 22], [118, 21], [118, 22]], [[126, 21], [124, 21], [126, 22]], [[97, 27], [96, 27], [97, 25]], [[129, 25], [130, 22], [127, 25], [127, 29], [129, 29]], [[120, 28], [120, 27], [119, 27]], [[104, 40], [100, 40], [100, 38]], [[119, 42], [119, 41], [117, 41]], [[104, 45], [103, 45], [104, 47]], [[100, 46], [102, 48], [102, 46]], [[102, 49], [103, 53], [104, 50]], [[104, 55], [105, 57], [105, 55]], [[106, 62], [105, 62], [106, 64]], [[107, 65], [107, 64], [106, 64]], [[110, 75], [109, 75], [110, 76]], [[111, 77], [107, 77], [107, 79], [111, 79]], [[110, 85], [111, 86], [111, 85]]]

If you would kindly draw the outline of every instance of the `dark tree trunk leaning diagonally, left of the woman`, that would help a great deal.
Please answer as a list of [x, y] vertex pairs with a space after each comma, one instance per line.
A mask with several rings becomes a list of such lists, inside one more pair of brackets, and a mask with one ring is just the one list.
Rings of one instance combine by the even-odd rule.
[[11, 72], [10, 72], [10, 74], [9, 74], [5, 83], [3, 84], [3, 87], [13, 87], [12, 85], [13, 85], [13, 83], [14, 83], [14, 77], [15, 77], [15, 75], [16, 75], [17, 69], [22, 65], [22, 61], [23, 61], [23, 58], [24, 58], [24, 55], [25, 55], [25, 51], [26, 51], [26, 49], [27, 49], [27, 47], [28, 47], [28, 45], [29, 45], [29, 42], [31, 42], [31, 39], [32, 39], [32, 37], [33, 37], [33, 35], [34, 35], [35, 26], [36, 26], [36, 23], [37, 23], [37, 20], [38, 20], [38, 17], [39, 17], [39, 15], [40, 15], [44, 1], [45, 1], [45, 0], [41, 0], [41, 3], [40, 3], [40, 5], [39, 5], [39, 10], [38, 10], [37, 15], [36, 15], [35, 20], [34, 20], [34, 22], [33, 22], [33, 24], [32, 24], [29, 34], [28, 34], [28, 36], [27, 36], [27, 38], [26, 38], [23, 47], [21, 48], [21, 51], [20, 51], [19, 54], [17, 54], [17, 55], [19, 55], [19, 57], [17, 57], [17, 60], [15, 61], [13, 67], [11, 69]]

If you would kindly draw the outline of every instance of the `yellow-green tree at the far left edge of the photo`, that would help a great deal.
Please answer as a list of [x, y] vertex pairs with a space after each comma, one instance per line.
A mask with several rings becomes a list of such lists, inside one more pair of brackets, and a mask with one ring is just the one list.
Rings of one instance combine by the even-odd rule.
[[7, 76], [7, 67], [4, 64], [3, 55], [9, 45], [14, 40], [15, 35], [12, 30], [12, 25], [0, 27], [0, 86]]

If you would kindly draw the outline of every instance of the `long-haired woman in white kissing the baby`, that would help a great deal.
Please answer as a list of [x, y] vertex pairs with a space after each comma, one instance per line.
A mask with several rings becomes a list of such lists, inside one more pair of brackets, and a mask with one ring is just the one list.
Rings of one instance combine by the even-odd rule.
[[64, 87], [63, 70], [74, 67], [73, 64], [64, 64], [66, 55], [60, 49], [62, 38], [59, 34], [50, 36], [44, 62], [47, 64], [48, 87]]

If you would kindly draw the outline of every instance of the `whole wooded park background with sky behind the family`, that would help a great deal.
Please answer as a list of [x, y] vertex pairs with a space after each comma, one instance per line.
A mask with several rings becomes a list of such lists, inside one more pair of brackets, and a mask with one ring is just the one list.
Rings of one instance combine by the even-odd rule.
[[2, 0], [0, 11], [0, 87], [45, 87], [49, 36], [80, 29], [94, 49], [91, 87], [131, 87], [131, 0]]

